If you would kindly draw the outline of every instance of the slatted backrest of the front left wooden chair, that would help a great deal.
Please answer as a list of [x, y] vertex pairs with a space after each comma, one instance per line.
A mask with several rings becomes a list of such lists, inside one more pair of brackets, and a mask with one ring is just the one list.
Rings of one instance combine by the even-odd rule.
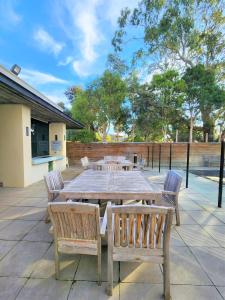
[[60, 240], [100, 239], [99, 206], [89, 203], [49, 203], [54, 236]]

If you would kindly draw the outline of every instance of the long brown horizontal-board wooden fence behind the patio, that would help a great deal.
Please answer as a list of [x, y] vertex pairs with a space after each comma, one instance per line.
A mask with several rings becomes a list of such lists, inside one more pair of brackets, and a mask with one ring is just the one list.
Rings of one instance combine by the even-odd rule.
[[[186, 166], [187, 143], [89, 143], [67, 142], [67, 157], [70, 165], [80, 163], [83, 156], [96, 161], [105, 155], [126, 155], [133, 160], [134, 154], [144, 160], [146, 166]], [[190, 145], [190, 168], [218, 167], [220, 162], [219, 143], [192, 143]]]

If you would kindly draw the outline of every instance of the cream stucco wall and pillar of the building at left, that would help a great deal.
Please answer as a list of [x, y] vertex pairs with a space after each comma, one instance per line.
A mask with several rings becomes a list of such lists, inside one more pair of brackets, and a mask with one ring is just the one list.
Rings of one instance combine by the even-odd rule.
[[[26, 127], [29, 135], [26, 135]], [[48, 163], [33, 165], [31, 153], [31, 111], [25, 105], [0, 105], [0, 182], [8, 187], [25, 187], [43, 179]], [[51, 141], [58, 136], [60, 151], [51, 149]], [[63, 156], [53, 162], [53, 169], [66, 168], [66, 126], [49, 125], [50, 155]]]

